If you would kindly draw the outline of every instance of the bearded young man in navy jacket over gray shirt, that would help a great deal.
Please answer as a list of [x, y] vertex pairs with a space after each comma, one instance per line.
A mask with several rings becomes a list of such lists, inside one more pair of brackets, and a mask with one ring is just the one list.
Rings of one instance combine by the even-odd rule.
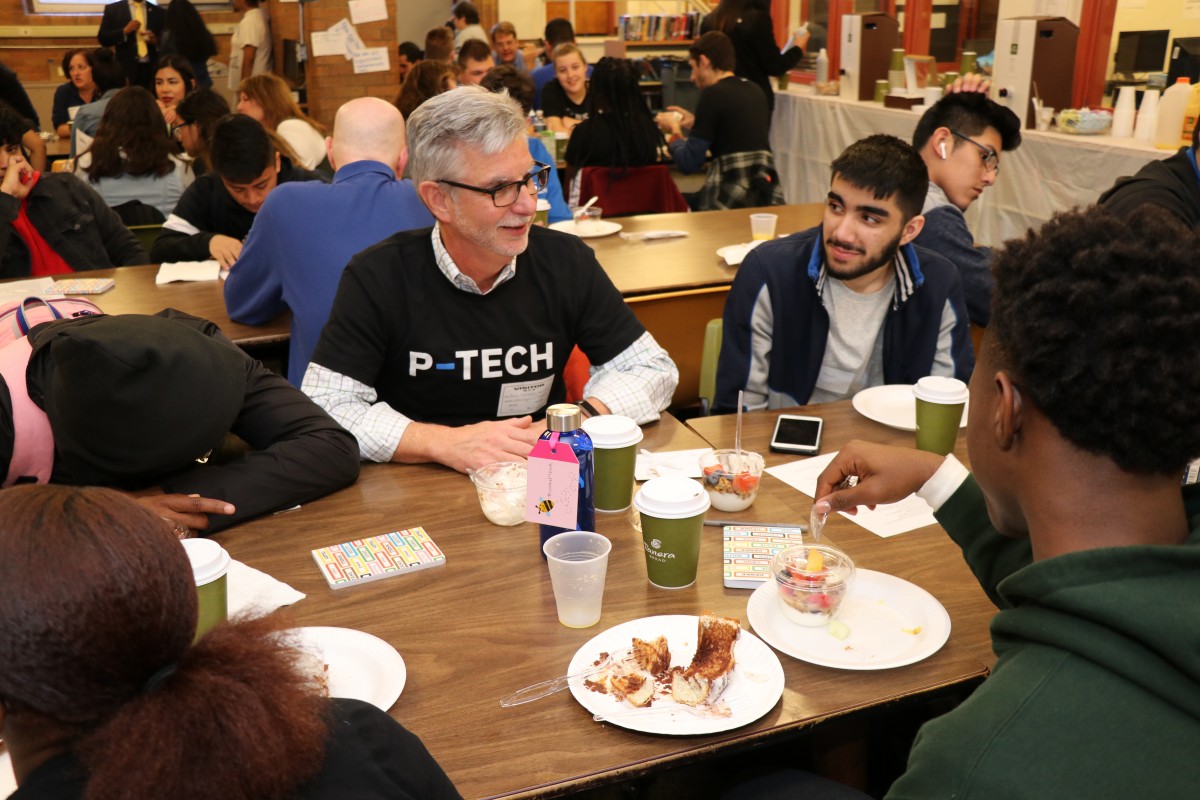
[[716, 407], [828, 403], [925, 375], [971, 377], [958, 270], [911, 242], [925, 164], [889, 136], [833, 162], [821, 225], [756, 247], [725, 302]]

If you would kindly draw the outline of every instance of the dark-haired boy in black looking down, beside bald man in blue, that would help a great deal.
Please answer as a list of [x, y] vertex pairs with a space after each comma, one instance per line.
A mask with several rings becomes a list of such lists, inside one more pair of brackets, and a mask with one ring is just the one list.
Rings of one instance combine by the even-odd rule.
[[161, 261], [203, 261], [215, 258], [232, 266], [266, 196], [288, 181], [324, 181], [317, 173], [294, 167], [280, 152], [278, 140], [245, 114], [217, 124], [209, 143], [212, 173], [200, 175], [179, 198], [150, 258]]

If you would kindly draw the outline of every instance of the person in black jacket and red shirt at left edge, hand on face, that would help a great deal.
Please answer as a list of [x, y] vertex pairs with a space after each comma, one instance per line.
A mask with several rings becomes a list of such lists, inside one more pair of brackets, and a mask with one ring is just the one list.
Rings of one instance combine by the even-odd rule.
[[149, 264], [116, 212], [74, 175], [38, 173], [22, 150], [28, 125], [0, 106], [0, 277]]

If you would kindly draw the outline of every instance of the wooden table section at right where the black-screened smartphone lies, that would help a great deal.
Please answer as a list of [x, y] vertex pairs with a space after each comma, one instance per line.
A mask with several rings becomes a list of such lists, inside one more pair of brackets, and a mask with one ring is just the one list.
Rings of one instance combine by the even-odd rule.
[[[779, 414], [820, 416], [824, 420], [821, 452], [839, 450], [852, 439], [863, 439], [886, 445], [912, 447], [913, 433], [898, 431], [866, 419], [853, 409], [850, 401], [803, 405], [776, 411], [754, 411], [742, 420], [742, 446], [762, 453], [767, 467], [786, 464], [803, 456], [770, 451], [770, 435]], [[688, 426], [702, 435], [714, 447], [732, 447], [737, 415], [696, 417]], [[964, 464], [967, 459], [965, 428], [959, 433], [954, 455]], [[808, 521], [812, 510], [812, 498], [803, 494], [772, 475], [763, 476], [762, 491], [781, 497], [793, 509], [797, 517]], [[751, 516], [746, 516], [751, 515]], [[715, 515], [714, 515], [715, 516]], [[768, 519], [762, 516], [758, 503], [739, 519]], [[826, 524], [828, 539], [845, 549], [858, 566], [877, 570], [910, 581], [937, 597], [950, 613], [953, 630], [950, 644], [958, 643], [989, 667], [996, 656], [991, 650], [988, 625], [996, 614], [996, 607], [983, 594], [978, 582], [962, 560], [961, 551], [950, 541], [940, 525], [930, 525], [889, 539], [881, 539], [854, 524], [841, 515], [832, 515]]]

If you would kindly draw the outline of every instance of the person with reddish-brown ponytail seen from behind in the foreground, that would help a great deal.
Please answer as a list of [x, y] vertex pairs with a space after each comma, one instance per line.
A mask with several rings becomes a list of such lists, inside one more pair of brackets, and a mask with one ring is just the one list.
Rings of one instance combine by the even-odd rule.
[[0, 518], [13, 796], [458, 796], [385, 712], [323, 697], [277, 615], [193, 643], [192, 567], [155, 512], [110, 489], [19, 486]]

